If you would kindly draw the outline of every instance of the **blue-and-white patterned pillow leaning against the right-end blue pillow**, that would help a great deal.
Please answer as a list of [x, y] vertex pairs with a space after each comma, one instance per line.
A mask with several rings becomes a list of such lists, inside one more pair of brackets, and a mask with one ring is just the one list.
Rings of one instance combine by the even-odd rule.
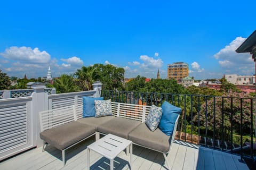
[[162, 117], [162, 108], [152, 105], [146, 118], [146, 125], [151, 131], [155, 131]]

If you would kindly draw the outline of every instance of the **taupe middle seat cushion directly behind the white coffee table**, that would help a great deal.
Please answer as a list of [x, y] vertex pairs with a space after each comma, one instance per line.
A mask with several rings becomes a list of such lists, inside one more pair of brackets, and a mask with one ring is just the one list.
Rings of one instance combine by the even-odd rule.
[[118, 137], [128, 139], [128, 134], [140, 124], [140, 121], [135, 121], [122, 117], [115, 117], [99, 125], [98, 132], [105, 134], [111, 133], [117, 135]]

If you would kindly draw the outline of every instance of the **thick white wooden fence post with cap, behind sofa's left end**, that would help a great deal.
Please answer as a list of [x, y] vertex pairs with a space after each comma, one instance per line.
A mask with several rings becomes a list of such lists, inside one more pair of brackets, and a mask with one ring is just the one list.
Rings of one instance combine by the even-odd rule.
[[48, 95], [44, 92], [46, 88], [44, 84], [35, 84], [32, 96], [32, 123], [33, 123], [33, 145], [37, 147], [43, 146], [43, 141], [39, 137], [41, 132], [39, 123], [39, 112], [48, 109]]

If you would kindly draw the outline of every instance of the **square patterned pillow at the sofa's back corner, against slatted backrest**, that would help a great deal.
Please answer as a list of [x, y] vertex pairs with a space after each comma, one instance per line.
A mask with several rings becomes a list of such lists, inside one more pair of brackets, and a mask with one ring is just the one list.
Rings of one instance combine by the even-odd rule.
[[94, 100], [95, 117], [112, 115], [111, 100]]

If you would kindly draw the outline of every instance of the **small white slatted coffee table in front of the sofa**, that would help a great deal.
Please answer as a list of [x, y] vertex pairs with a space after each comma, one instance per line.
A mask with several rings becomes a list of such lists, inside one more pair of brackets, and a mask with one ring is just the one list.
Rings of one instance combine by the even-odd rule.
[[[105, 137], [95, 141], [87, 146], [87, 169], [90, 169], [90, 150], [98, 152], [100, 155], [110, 159], [110, 169], [114, 169], [114, 159], [125, 148], [129, 150], [130, 146], [130, 167], [132, 169], [132, 141], [108, 134]], [[127, 153], [128, 155], [128, 153]]]

